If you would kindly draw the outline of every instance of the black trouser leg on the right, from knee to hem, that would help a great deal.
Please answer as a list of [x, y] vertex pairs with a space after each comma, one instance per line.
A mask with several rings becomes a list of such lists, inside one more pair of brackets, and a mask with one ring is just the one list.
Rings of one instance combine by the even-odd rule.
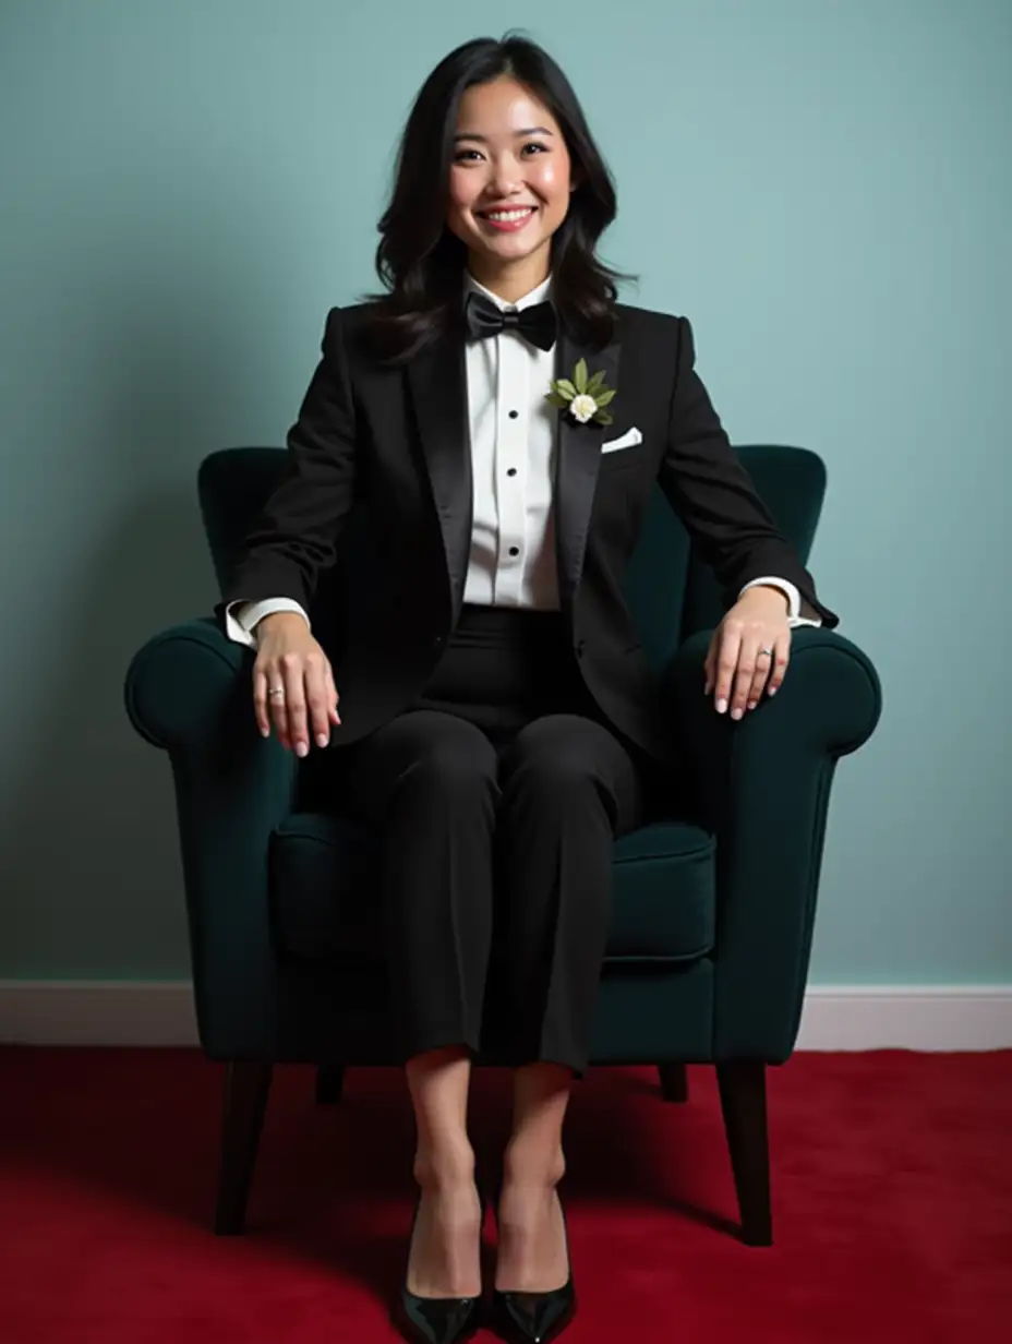
[[612, 919], [612, 847], [642, 823], [645, 781], [607, 728], [552, 714], [503, 750], [499, 782], [496, 977], [516, 1027], [513, 1062], [555, 1060], [582, 1077]]

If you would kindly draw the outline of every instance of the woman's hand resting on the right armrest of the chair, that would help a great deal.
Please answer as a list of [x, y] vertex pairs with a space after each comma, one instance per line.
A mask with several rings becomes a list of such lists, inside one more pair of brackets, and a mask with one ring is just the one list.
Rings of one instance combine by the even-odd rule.
[[[773, 649], [773, 655], [763, 649]], [[788, 598], [779, 589], [747, 589], [714, 630], [706, 659], [704, 695], [716, 683], [716, 712], [731, 718], [754, 710], [763, 687], [775, 695], [790, 661]]]

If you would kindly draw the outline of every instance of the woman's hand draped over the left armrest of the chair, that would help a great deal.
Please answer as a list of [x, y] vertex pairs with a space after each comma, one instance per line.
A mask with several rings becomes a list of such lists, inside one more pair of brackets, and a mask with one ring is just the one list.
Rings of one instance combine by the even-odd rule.
[[[282, 689], [280, 695], [269, 691]], [[337, 688], [331, 661], [297, 612], [276, 612], [257, 622], [257, 661], [253, 667], [253, 707], [262, 737], [270, 737], [270, 720], [278, 742], [309, 751], [309, 730], [316, 745], [331, 741], [331, 723], [340, 724]]]

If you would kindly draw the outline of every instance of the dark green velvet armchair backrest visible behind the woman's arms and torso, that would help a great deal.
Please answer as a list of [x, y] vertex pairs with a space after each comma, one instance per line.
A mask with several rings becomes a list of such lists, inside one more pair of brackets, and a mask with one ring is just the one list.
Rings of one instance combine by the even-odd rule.
[[[825, 497], [825, 466], [804, 448], [746, 445], [736, 453], [777, 526], [802, 563], [818, 524]], [[243, 539], [251, 530], [285, 465], [281, 448], [228, 448], [200, 464], [198, 495], [219, 589], [228, 581]], [[349, 574], [367, 573], [356, 555], [367, 554], [364, 509], [356, 507], [345, 531], [335, 570], [320, 582], [310, 618], [320, 642], [340, 628]], [[712, 570], [706, 564], [675, 511], [655, 487], [640, 542], [622, 585], [644, 650], [655, 667], [673, 656], [679, 644], [720, 620], [723, 602]]]

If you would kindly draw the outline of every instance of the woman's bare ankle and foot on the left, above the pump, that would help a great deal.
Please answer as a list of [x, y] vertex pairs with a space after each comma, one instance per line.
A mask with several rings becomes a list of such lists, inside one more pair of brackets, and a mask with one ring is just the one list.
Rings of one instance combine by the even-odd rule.
[[415, 1111], [414, 1177], [422, 1203], [409, 1253], [407, 1289], [418, 1297], [477, 1297], [481, 1214], [468, 1138], [470, 1055], [445, 1046], [405, 1066]]

